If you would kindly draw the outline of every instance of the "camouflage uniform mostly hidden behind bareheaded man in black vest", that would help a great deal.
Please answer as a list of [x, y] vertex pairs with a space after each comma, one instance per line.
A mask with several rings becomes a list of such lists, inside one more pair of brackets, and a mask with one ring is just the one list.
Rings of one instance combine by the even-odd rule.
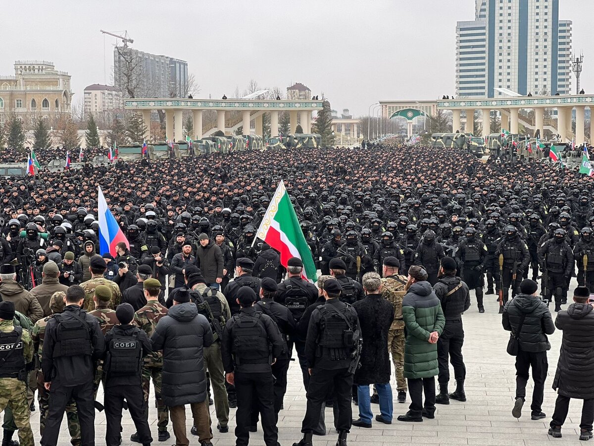
[[[64, 291], [58, 291], [58, 293], [64, 294]], [[55, 293], [55, 294], [58, 294]], [[39, 433], [43, 435], [43, 430], [45, 429], [45, 422], [48, 418], [49, 412], [49, 392], [45, 390], [43, 387], [43, 382], [45, 381], [43, 377], [43, 373], [41, 371], [41, 357], [43, 351], [43, 338], [45, 337], [45, 327], [48, 325], [49, 319], [53, 318], [53, 315], [47, 316], [46, 318], [39, 319], [39, 321], [35, 322], [33, 326], [33, 331], [31, 331], [31, 339], [33, 339], [34, 344], [34, 351], [35, 351], [35, 372], [37, 373], [37, 391], [38, 397], [37, 400], [39, 401]], [[72, 446], [80, 446], [81, 439], [80, 439], [80, 423], [78, 422], [78, 413], [76, 410], [76, 403], [74, 399], [68, 401], [66, 406], [66, 419], [68, 423], [68, 432], [70, 432]]]

